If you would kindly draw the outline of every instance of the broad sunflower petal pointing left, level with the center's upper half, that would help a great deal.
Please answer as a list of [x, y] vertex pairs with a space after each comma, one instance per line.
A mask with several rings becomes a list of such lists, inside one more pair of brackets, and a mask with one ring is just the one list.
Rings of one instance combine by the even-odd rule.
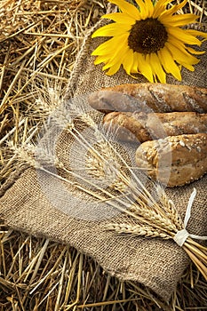
[[108, 24], [97, 29], [92, 34], [92, 38], [96, 36], [120, 36], [120, 35], [125, 34], [130, 29], [131, 29], [131, 25], [112, 23], [112, 24]]

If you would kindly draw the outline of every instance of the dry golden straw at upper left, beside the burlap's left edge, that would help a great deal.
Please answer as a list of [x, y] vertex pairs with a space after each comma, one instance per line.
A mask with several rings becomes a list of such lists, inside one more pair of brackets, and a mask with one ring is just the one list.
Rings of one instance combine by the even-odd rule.
[[1, 183], [14, 171], [6, 140], [19, 144], [41, 128], [47, 112], [36, 101], [51, 85], [64, 92], [88, 28], [105, 12], [101, 0], [0, 2]]

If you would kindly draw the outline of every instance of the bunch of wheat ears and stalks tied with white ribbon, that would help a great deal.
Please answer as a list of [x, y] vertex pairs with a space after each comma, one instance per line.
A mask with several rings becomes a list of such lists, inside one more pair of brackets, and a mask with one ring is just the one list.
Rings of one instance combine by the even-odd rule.
[[[76, 120], [90, 127], [91, 132], [87, 137], [78, 128]], [[52, 150], [50, 141], [44, 141], [37, 148], [31, 144], [23, 148], [12, 147], [14, 152], [24, 163], [76, 187], [84, 194], [90, 195], [96, 203], [105, 203], [110, 208], [122, 211], [127, 221], [109, 224], [107, 230], [113, 230], [117, 234], [174, 239], [175, 235], [184, 229], [184, 223], [163, 187], [154, 184], [158, 195], [158, 200], [155, 200], [123, 156], [115, 149], [105, 130], [99, 128], [92, 116], [85, 113], [80, 105], [78, 108], [73, 102], [68, 103], [68, 107], [61, 105], [52, 114], [51, 124], [68, 132], [68, 135], [80, 145], [86, 155], [85, 168], [73, 170], [66, 167]], [[92, 135], [98, 140], [95, 144]], [[47, 166], [54, 166], [64, 171], [64, 177], [57, 171], [50, 171]], [[71, 177], [78, 181], [74, 183]], [[187, 237], [182, 248], [207, 279], [206, 248], [195, 243], [190, 237]]]

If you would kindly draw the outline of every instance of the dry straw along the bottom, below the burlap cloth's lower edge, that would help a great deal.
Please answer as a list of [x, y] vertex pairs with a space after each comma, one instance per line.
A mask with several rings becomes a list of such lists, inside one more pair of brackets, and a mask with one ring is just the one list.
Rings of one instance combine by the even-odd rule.
[[192, 266], [167, 306], [147, 288], [119, 282], [66, 245], [4, 227], [0, 235], [2, 310], [202, 310], [207, 302], [205, 283]]

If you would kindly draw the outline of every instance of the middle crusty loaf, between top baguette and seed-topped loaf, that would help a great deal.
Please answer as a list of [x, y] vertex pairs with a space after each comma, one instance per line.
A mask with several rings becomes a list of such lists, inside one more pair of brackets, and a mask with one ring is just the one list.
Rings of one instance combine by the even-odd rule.
[[207, 114], [196, 112], [111, 112], [104, 116], [103, 123], [115, 127], [118, 140], [140, 143], [166, 136], [207, 132]]

